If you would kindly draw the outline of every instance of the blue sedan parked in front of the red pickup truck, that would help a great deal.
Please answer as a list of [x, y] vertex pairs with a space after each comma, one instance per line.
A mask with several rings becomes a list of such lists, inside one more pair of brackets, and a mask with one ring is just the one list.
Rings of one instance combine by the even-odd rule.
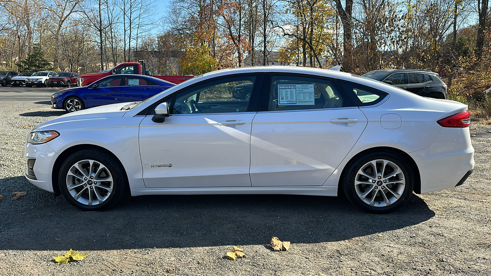
[[111, 75], [82, 87], [63, 89], [51, 96], [54, 109], [68, 112], [110, 104], [143, 101], [174, 86], [143, 75]]

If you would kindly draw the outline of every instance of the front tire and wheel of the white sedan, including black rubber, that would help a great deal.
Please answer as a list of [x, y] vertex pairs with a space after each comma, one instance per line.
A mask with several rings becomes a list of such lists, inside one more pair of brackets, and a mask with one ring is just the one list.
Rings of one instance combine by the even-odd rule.
[[123, 166], [112, 154], [83, 149], [63, 162], [58, 186], [63, 197], [76, 208], [104, 211], [128, 193], [129, 185]]

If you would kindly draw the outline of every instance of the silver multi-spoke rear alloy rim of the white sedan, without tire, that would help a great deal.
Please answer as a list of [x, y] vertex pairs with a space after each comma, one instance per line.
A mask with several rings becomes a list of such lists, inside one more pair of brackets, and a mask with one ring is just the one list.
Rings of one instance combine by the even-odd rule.
[[406, 187], [402, 169], [388, 160], [373, 160], [361, 168], [355, 177], [355, 192], [367, 205], [386, 207], [401, 198]]

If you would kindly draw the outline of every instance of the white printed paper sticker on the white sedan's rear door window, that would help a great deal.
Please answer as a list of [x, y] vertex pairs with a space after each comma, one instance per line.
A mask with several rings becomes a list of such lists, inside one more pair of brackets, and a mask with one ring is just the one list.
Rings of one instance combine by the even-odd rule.
[[278, 84], [278, 105], [315, 105], [314, 84]]

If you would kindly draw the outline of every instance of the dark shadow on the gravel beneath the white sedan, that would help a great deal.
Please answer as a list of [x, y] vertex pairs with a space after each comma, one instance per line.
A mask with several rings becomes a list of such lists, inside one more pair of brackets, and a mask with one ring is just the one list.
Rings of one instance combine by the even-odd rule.
[[[16, 191], [6, 191], [13, 183]], [[151, 195], [128, 197], [105, 212], [82, 212], [23, 177], [0, 179], [1, 193], [18, 191], [27, 195], [0, 202], [0, 249], [245, 246], [268, 244], [272, 236], [292, 244], [335, 242], [435, 216], [416, 194], [386, 215], [359, 211], [343, 197], [303, 195]]]

